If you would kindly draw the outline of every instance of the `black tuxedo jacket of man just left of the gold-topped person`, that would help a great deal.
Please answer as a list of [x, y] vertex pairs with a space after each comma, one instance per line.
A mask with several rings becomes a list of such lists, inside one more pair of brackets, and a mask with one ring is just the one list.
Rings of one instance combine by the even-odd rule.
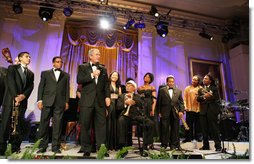
[[184, 103], [182, 98], [182, 91], [178, 88], [173, 88], [172, 98], [168, 93], [168, 87], [162, 87], [158, 93], [157, 109], [162, 117], [168, 118], [170, 111], [173, 110], [174, 118], [178, 118], [178, 112], [184, 112]]

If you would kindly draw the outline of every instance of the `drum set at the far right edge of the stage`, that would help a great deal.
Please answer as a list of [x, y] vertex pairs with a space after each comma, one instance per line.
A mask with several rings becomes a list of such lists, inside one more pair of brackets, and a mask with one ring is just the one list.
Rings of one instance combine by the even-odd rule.
[[235, 102], [222, 100], [219, 121], [222, 140], [249, 141], [249, 102], [247, 99]]

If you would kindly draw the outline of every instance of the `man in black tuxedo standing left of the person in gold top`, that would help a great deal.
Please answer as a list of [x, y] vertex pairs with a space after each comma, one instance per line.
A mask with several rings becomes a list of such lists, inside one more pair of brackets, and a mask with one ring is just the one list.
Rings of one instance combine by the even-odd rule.
[[161, 146], [170, 149], [180, 149], [179, 118], [183, 117], [184, 103], [182, 91], [175, 86], [175, 78], [167, 77], [167, 86], [158, 93], [157, 109], [161, 124]]

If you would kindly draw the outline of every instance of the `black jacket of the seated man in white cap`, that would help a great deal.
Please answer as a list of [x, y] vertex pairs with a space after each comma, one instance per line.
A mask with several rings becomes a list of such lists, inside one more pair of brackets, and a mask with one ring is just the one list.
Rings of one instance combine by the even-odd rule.
[[[123, 115], [127, 111], [127, 106], [124, 104], [126, 93], [119, 96], [117, 100], [117, 110], [121, 111], [120, 115]], [[139, 94], [134, 93], [133, 98], [135, 105], [131, 106], [129, 109], [129, 117], [135, 119], [135, 117], [143, 115], [143, 100]]]

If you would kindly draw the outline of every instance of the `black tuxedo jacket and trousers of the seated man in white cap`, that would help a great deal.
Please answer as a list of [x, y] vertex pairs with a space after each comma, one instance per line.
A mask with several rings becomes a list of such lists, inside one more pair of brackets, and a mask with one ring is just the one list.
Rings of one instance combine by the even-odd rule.
[[139, 94], [133, 94], [133, 100], [135, 105], [129, 108], [129, 115], [125, 116], [128, 107], [125, 105], [125, 94], [122, 94], [117, 100], [117, 110], [121, 111], [120, 117], [118, 119], [118, 142], [121, 146], [128, 145], [128, 127], [131, 125], [132, 121], [137, 121], [143, 127], [145, 136], [144, 144], [145, 148], [148, 144], [153, 143], [153, 132], [154, 132], [154, 122], [144, 115], [143, 100]]

